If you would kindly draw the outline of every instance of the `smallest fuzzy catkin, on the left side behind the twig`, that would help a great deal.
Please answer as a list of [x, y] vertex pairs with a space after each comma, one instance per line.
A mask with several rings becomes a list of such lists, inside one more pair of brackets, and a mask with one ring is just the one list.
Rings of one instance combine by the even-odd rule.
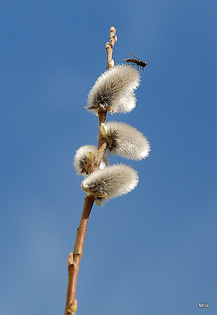
[[[91, 163], [96, 159], [97, 147], [94, 145], [86, 145], [80, 147], [74, 156], [74, 167], [77, 175], [88, 175], [88, 168]], [[100, 163], [99, 169], [106, 167], [108, 164], [108, 158], [104, 155]]]

